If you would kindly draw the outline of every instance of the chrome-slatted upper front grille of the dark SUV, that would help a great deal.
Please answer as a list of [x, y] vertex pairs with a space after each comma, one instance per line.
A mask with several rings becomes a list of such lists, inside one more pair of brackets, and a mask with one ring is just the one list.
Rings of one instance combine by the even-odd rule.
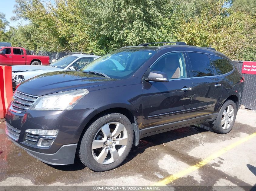
[[15, 91], [11, 106], [17, 113], [25, 113], [35, 102], [38, 96], [24, 94], [19, 91]]

